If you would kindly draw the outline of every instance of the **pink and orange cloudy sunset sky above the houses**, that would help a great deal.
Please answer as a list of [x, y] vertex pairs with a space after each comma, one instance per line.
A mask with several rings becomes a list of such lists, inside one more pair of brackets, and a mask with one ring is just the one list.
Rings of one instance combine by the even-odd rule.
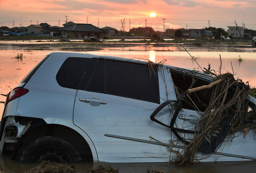
[[[156, 17], [150, 17], [150, 13]], [[68, 21], [87, 23], [103, 28], [125, 30], [152, 27], [163, 31], [164, 18], [167, 28], [205, 28], [210, 26], [228, 29], [227, 26], [245, 24], [256, 29], [256, 0], [0, 0], [0, 26], [29, 26], [47, 22], [60, 26]], [[32, 22], [31, 22], [32, 20]]]

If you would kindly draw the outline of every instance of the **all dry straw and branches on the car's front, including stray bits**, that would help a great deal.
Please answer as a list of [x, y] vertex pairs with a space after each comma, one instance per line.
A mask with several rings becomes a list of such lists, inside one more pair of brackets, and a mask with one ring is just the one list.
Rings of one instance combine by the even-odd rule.
[[[220, 62], [222, 63], [221, 57]], [[148, 62], [150, 73], [154, 73], [153, 69], [159, 65]], [[194, 163], [194, 161], [198, 161], [198, 151], [202, 153], [214, 152], [225, 139], [232, 142], [232, 138], [235, 138], [235, 132], [244, 131], [244, 136], [250, 129], [256, 132], [256, 112], [253, 108], [254, 105], [251, 105], [248, 100], [249, 95], [256, 96], [256, 89], [251, 89], [248, 82], [244, 83], [241, 79], [235, 79], [234, 71], [233, 74], [229, 72], [221, 74], [221, 64], [218, 75], [216, 71], [210, 69], [210, 64], [208, 69], [204, 69], [204, 73], [213, 76], [212, 82], [208, 85], [195, 87], [197, 79], [194, 78], [192, 71], [190, 74], [192, 83], [188, 90], [184, 92], [175, 86], [177, 100], [187, 103], [189, 101], [194, 110], [200, 113], [201, 118], [196, 122], [194, 130], [191, 132], [194, 133], [194, 136], [190, 139], [183, 138], [180, 141], [183, 142], [181, 145], [184, 149], [181, 152], [176, 151], [176, 157], [172, 158], [170, 162], [178, 161], [180, 165]], [[204, 97], [198, 97], [198, 92], [203, 92]], [[168, 96], [167, 92], [166, 94]], [[195, 96], [191, 97], [191, 94]], [[204, 104], [205, 110], [199, 110], [195, 102]], [[171, 110], [170, 113], [172, 114]], [[178, 143], [180, 144], [180, 142]], [[174, 142], [172, 141], [172, 143]], [[170, 151], [175, 151], [170, 146], [167, 147]]]

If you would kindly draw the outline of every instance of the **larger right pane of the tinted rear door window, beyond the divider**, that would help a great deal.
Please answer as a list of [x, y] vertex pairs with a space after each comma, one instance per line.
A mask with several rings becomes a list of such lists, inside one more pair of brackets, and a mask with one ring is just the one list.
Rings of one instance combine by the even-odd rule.
[[158, 74], [146, 64], [107, 60], [106, 94], [159, 103]]

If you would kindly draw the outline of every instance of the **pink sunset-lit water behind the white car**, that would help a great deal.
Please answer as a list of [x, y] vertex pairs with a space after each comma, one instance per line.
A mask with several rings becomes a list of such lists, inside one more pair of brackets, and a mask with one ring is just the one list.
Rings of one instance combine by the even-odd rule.
[[[183, 51], [181, 46], [170, 44], [150, 45], [150, 44], [134, 44], [130, 46], [116, 47], [116, 43], [108, 47], [103, 47], [99, 51], [86, 51], [86, 53], [96, 55], [110, 55], [116, 57], [125, 57], [130, 59], [150, 59], [153, 62], [160, 62], [166, 59], [166, 64], [183, 67], [187, 69], [199, 70], [199, 67], [192, 58]], [[74, 46], [74, 45], [73, 45]], [[34, 48], [32, 50], [31, 48]], [[14, 46], [0, 44], [0, 93], [7, 94], [10, 92], [23, 77], [32, 69], [45, 55], [50, 53], [50, 50], [37, 49], [34, 46]], [[59, 51], [60, 47], [54, 51]], [[197, 58], [200, 66], [208, 68], [208, 63], [211, 64], [211, 69], [218, 71], [220, 67], [220, 55], [222, 57], [222, 73], [227, 71], [232, 72], [232, 66], [235, 78], [239, 77], [244, 82], [249, 81], [251, 86], [256, 86], [256, 48], [243, 48], [242, 52], [227, 52], [227, 51], [212, 51], [208, 49], [188, 49], [193, 57]], [[83, 50], [83, 49], [81, 49]], [[84, 52], [85, 51], [81, 51]], [[157, 53], [156, 53], [157, 52]], [[23, 53], [23, 60], [17, 61], [14, 57], [17, 53]], [[239, 62], [238, 57], [243, 61]], [[232, 66], [231, 63], [232, 62]], [[5, 101], [6, 97], [0, 95], [0, 101]], [[0, 116], [4, 110], [4, 104], [0, 103]]]

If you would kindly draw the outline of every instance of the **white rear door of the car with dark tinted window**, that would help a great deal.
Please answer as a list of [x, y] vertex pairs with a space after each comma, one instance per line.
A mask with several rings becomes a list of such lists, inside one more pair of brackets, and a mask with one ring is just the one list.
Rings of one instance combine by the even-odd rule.
[[[90, 136], [100, 162], [169, 161], [165, 146], [111, 138], [154, 138], [169, 143], [170, 129], [150, 120], [150, 115], [167, 100], [167, 92], [169, 98], [174, 96], [174, 89], [164, 84], [166, 71], [149, 69], [146, 63], [100, 58], [92, 75], [82, 80], [74, 104], [74, 124]], [[170, 75], [167, 80], [171, 81]], [[169, 109], [164, 108], [157, 118], [170, 124]]]

